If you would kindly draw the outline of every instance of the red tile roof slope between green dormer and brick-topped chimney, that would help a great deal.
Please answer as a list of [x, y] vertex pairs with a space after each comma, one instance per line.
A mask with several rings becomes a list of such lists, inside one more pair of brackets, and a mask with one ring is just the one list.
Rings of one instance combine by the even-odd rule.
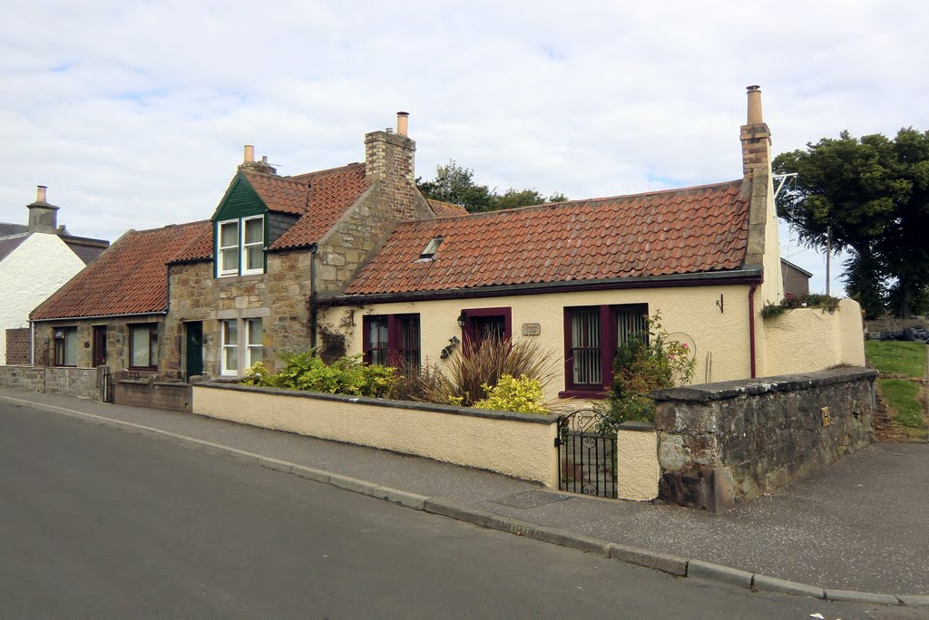
[[292, 178], [309, 183], [306, 213], [271, 244], [271, 250], [316, 243], [368, 188], [364, 182], [363, 163], [349, 163], [341, 168], [300, 174]]

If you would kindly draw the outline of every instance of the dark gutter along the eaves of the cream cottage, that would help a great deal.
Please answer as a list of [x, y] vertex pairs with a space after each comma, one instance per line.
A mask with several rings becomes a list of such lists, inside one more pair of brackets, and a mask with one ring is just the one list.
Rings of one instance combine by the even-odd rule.
[[381, 304], [390, 302], [434, 301], [441, 299], [501, 297], [504, 295], [531, 295], [541, 292], [610, 291], [617, 289], [651, 289], [726, 284], [752, 284], [756, 286], [761, 281], [761, 269], [739, 269], [737, 271], [700, 272], [694, 274], [675, 274], [673, 276], [605, 278], [568, 282], [532, 282], [528, 284], [506, 284], [475, 287], [473, 289], [447, 289], [443, 291], [405, 291], [349, 295], [335, 294], [325, 296], [322, 301], [326, 305]]

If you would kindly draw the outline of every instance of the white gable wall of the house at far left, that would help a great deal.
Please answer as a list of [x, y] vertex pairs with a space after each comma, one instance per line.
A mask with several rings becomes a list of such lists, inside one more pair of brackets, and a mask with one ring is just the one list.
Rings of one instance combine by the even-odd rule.
[[84, 268], [58, 235], [33, 233], [0, 261], [0, 363], [7, 329], [29, 327], [29, 313]]

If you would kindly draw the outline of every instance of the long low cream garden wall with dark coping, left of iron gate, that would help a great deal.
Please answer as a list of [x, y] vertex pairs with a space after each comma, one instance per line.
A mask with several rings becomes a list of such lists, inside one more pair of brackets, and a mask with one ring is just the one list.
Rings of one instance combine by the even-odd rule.
[[497, 471], [554, 488], [556, 416], [203, 382], [193, 412]]

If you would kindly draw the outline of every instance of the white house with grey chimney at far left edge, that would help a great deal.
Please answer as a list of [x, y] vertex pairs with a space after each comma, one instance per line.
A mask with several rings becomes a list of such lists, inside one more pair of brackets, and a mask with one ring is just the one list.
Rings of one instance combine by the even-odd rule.
[[[74, 237], [58, 226], [59, 207], [46, 202], [44, 186], [38, 187], [27, 208], [28, 225], [0, 223], [2, 365], [30, 362], [29, 313], [110, 245], [102, 239]], [[77, 342], [71, 346], [76, 356]]]

